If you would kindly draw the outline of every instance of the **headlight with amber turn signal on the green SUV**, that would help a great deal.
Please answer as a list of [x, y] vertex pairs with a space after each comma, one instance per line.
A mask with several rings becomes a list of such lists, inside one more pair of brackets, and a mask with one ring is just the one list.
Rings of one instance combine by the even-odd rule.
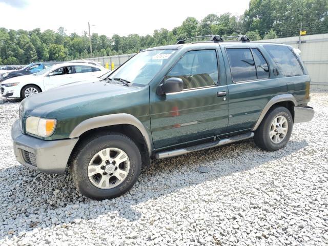
[[40, 137], [50, 137], [55, 131], [56, 122], [56, 119], [30, 116], [26, 119], [26, 132]]

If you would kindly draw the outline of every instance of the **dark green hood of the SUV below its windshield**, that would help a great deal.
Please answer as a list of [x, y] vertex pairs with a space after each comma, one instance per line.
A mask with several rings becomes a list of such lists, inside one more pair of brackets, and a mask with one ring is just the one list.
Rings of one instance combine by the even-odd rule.
[[86, 109], [99, 113], [109, 108], [126, 107], [129, 94], [142, 89], [105, 81], [57, 87], [24, 99], [21, 103], [23, 117], [66, 118], [71, 117], [72, 113], [83, 115]]

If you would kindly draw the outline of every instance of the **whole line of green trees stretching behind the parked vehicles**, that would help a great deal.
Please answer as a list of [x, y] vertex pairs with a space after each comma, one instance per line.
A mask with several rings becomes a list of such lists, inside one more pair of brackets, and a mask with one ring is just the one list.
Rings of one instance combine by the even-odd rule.
[[[328, 33], [327, 0], [251, 0], [242, 16], [209, 14], [201, 20], [187, 17], [171, 31], [154, 30], [152, 35], [129, 34], [112, 37], [93, 33], [93, 56], [135, 53], [140, 49], [171, 45], [192, 36], [246, 34], [251, 40], [299, 35], [300, 26], [307, 34]], [[0, 64], [28, 64], [32, 61], [70, 60], [90, 57], [87, 32], [67, 34], [57, 31], [7, 30], [0, 28]]]

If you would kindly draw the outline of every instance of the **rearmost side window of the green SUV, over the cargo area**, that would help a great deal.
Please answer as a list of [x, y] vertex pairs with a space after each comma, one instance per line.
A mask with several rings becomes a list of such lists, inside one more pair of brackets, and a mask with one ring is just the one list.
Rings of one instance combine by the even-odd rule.
[[282, 45], [264, 45], [272, 59], [277, 64], [281, 73], [285, 76], [304, 74], [295, 54]]

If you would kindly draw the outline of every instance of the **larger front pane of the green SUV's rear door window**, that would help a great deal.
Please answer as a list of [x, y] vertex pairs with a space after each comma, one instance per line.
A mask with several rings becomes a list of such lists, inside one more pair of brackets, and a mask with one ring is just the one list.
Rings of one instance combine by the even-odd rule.
[[227, 54], [234, 82], [257, 79], [250, 49], [227, 49]]

